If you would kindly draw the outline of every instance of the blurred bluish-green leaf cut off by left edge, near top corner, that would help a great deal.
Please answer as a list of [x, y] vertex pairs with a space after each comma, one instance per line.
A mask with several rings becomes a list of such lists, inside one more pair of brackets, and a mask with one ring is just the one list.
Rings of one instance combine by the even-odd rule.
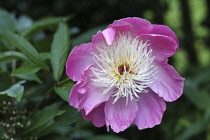
[[14, 31], [15, 25], [16, 20], [14, 16], [3, 9], [0, 9], [0, 33], [7, 30]]

